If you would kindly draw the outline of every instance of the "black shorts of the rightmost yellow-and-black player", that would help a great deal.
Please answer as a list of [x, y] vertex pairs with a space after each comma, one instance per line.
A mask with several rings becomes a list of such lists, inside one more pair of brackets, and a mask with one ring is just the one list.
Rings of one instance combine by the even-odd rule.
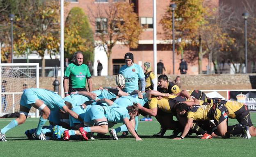
[[235, 117], [240, 124], [244, 124], [245, 126], [251, 127], [251, 117], [250, 111], [248, 110], [247, 106], [243, 105], [238, 111], [235, 111]]

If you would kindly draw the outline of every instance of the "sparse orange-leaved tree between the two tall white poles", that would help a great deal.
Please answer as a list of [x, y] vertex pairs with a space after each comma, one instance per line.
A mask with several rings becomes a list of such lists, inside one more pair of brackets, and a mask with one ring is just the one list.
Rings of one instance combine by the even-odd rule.
[[138, 46], [139, 35], [142, 28], [138, 22], [138, 16], [133, 10], [134, 4], [128, 2], [109, 2], [108, 5], [98, 5], [97, 11], [89, 11], [94, 23], [96, 21], [96, 46], [102, 46], [108, 58], [108, 74], [111, 69], [112, 48], [117, 42], [130, 48]]

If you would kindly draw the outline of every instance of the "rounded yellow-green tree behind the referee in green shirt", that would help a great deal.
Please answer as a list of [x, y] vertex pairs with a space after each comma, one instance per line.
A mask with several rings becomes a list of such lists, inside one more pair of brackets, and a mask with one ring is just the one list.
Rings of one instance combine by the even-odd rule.
[[64, 55], [70, 58], [76, 51], [81, 51], [84, 55], [84, 62], [93, 60], [93, 35], [85, 13], [81, 8], [73, 7], [65, 22]]

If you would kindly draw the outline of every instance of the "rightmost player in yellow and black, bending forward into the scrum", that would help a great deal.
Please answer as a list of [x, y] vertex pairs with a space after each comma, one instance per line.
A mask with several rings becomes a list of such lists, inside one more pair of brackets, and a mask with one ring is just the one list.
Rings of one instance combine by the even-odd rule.
[[249, 127], [249, 132], [251, 136], [256, 136], [256, 128], [254, 128], [251, 122], [250, 111], [245, 104], [236, 101], [224, 100], [220, 98], [211, 99], [214, 103], [224, 104], [228, 109], [228, 117], [232, 119], [237, 119], [240, 124]]

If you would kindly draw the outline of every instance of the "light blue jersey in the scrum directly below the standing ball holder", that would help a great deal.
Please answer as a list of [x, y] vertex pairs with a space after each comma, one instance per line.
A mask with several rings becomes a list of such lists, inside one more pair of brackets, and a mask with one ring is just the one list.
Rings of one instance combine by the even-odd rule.
[[137, 94], [119, 97], [117, 100], [114, 101], [114, 103], [122, 107], [132, 106], [133, 102], [139, 103], [144, 106], [146, 102], [149, 101], [149, 99], [144, 96], [145, 94], [146, 93], [142, 93], [142, 99], [139, 99]]

